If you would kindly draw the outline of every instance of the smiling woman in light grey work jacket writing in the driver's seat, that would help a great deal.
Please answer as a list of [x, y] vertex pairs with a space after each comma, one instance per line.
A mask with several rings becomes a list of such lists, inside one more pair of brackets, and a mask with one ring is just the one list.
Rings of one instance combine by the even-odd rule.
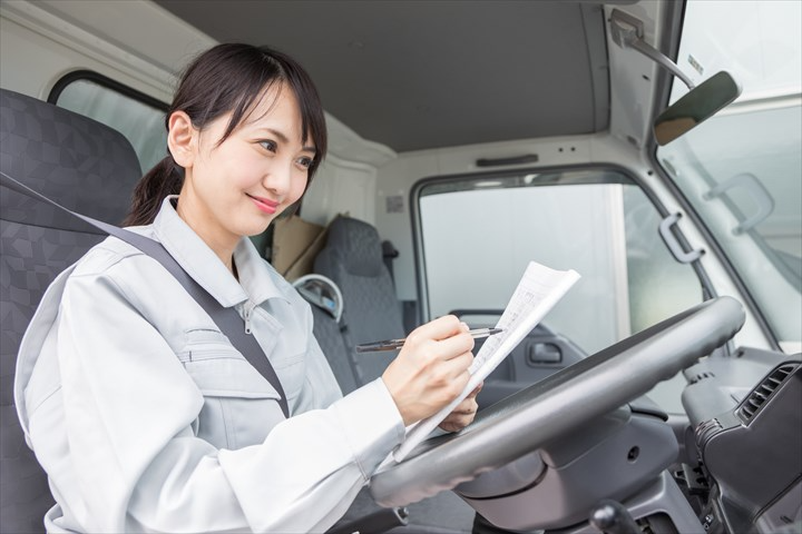
[[[454, 317], [414, 330], [375, 382], [342, 397], [309, 305], [260, 258], [260, 234], [297, 201], [326, 148], [323, 110], [290, 58], [221, 44], [185, 72], [165, 158], [128, 222], [234, 307], [278, 393], [153, 258], [109, 238], [51, 285], [20, 348], [22, 426], [57, 504], [49, 532], [325, 531], [404, 426], [468, 382]], [[473, 398], [446, 419], [472, 421]]]

